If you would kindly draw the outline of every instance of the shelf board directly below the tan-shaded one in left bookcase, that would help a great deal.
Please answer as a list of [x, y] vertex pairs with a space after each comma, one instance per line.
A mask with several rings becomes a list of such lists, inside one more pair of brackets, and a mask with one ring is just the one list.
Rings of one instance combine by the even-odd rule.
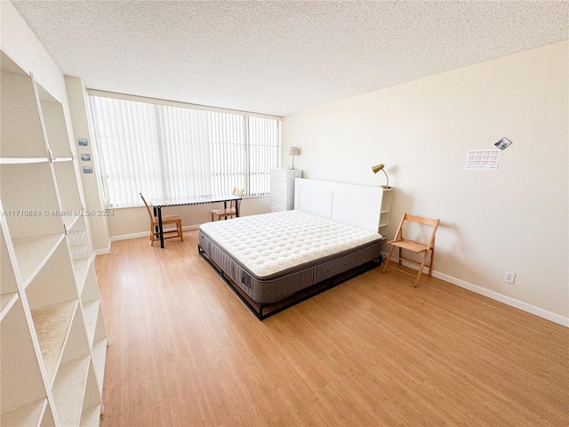
[[88, 368], [89, 356], [85, 356], [62, 364], [58, 370], [52, 392], [62, 426], [79, 425], [81, 421]]

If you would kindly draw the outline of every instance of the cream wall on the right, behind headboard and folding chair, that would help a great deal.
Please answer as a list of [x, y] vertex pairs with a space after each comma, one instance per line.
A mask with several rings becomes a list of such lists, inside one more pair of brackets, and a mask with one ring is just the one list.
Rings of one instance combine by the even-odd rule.
[[[311, 179], [395, 187], [407, 212], [441, 219], [438, 276], [569, 325], [567, 42], [284, 117], [283, 158]], [[499, 168], [467, 149], [508, 137]], [[517, 274], [503, 282], [506, 270]]]

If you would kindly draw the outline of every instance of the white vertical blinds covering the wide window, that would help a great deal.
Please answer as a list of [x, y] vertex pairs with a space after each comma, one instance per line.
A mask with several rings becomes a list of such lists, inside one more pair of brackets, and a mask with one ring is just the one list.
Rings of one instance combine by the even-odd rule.
[[89, 96], [108, 207], [245, 189], [269, 193], [280, 121], [245, 113]]

